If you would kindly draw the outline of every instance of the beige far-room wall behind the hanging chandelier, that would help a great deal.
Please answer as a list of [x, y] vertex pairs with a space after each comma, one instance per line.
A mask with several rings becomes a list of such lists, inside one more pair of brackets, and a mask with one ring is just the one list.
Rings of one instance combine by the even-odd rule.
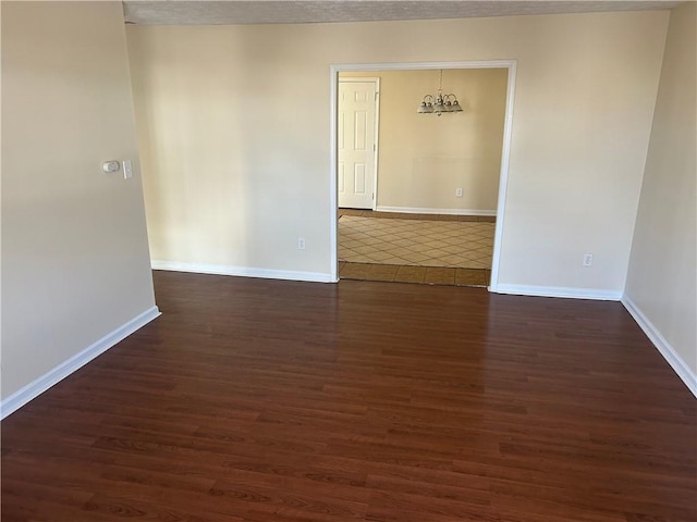
[[380, 78], [378, 209], [496, 213], [508, 70], [443, 71], [444, 92], [457, 95], [464, 111], [441, 116], [416, 112], [436, 94], [439, 71], [339, 76]]

